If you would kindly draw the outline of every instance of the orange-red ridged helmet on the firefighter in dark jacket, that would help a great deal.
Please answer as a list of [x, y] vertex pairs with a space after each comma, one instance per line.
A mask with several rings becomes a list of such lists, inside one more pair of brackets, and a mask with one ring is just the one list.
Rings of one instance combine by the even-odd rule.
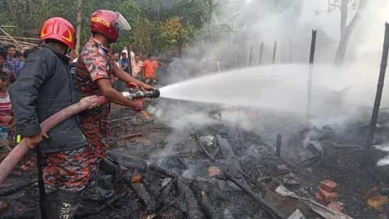
[[74, 27], [62, 17], [53, 17], [42, 24], [40, 40], [53, 39], [63, 42], [70, 49], [74, 49]]

